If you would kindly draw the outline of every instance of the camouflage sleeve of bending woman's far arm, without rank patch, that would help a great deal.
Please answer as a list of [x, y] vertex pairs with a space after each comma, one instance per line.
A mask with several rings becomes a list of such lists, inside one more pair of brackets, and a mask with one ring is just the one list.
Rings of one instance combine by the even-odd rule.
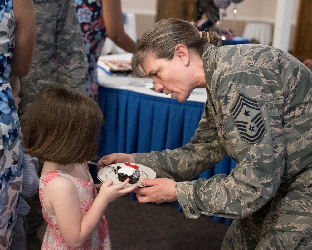
[[160, 178], [190, 180], [226, 155], [217, 134], [214, 118], [206, 102], [205, 111], [190, 143], [174, 150], [135, 153], [134, 161], [153, 168]]

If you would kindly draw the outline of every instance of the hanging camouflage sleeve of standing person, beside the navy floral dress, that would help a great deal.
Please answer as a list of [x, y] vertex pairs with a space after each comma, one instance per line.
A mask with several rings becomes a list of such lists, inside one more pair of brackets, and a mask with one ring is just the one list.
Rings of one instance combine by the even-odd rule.
[[88, 59], [73, 1], [58, 1], [56, 52], [60, 83], [86, 92]]

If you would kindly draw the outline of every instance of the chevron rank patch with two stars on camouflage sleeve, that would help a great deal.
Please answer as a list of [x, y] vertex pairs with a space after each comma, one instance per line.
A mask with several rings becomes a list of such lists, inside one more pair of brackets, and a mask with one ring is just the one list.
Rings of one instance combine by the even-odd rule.
[[230, 111], [242, 140], [248, 143], [256, 143], [262, 138], [266, 132], [266, 127], [258, 100], [238, 92]]

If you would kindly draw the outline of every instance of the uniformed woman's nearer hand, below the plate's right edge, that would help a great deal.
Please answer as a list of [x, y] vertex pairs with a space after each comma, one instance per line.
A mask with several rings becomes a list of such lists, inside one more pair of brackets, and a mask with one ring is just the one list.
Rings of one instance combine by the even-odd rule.
[[140, 182], [146, 186], [150, 186], [134, 190], [140, 203], [155, 202], [158, 204], [178, 200], [175, 192], [176, 182], [174, 180], [166, 178], [140, 178]]

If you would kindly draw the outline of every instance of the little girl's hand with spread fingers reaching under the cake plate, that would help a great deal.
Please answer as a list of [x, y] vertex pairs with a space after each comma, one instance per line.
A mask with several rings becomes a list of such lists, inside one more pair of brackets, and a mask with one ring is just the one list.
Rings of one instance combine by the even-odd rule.
[[105, 183], [102, 184], [99, 190], [98, 197], [103, 199], [103, 202], [106, 204], [115, 201], [119, 196], [125, 195], [137, 189], [137, 185], [132, 187], [123, 188], [129, 182], [129, 178], [124, 182], [113, 185], [112, 179], [108, 179]]

